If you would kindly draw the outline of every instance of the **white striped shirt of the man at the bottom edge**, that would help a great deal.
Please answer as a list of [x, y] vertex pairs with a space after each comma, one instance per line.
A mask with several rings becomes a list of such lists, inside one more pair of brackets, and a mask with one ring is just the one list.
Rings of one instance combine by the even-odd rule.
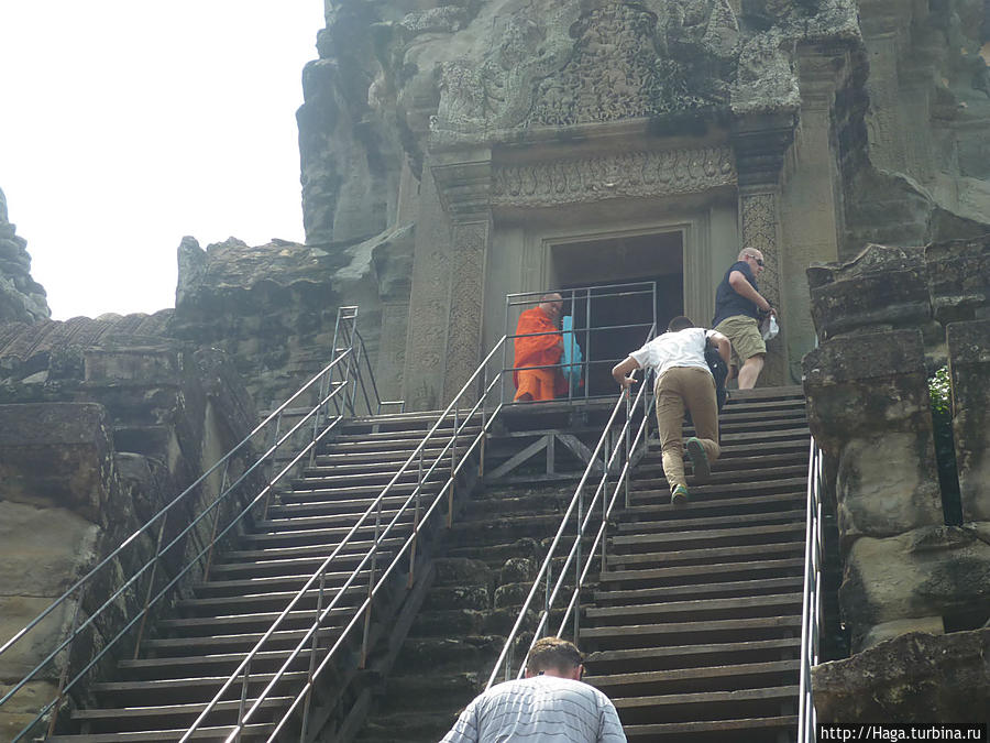
[[498, 684], [461, 712], [441, 743], [625, 743], [608, 697], [587, 684], [534, 676]]

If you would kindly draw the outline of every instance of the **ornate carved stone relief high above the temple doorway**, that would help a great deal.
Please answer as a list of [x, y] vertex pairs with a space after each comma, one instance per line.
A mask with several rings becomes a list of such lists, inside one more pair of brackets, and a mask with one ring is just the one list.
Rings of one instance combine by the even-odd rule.
[[[540, 4], [541, 7], [536, 7]], [[441, 65], [433, 130], [650, 117], [728, 101], [739, 29], [728, 0], [536, 3], [493, 21], [479, 61]]]

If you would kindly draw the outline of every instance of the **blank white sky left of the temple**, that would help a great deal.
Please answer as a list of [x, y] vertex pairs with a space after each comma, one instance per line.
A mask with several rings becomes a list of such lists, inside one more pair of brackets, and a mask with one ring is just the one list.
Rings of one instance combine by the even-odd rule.
[[0, 0], [0, 188], [53, 317], [175, 304], [176, 248], [302, 240], [322, 0]]

